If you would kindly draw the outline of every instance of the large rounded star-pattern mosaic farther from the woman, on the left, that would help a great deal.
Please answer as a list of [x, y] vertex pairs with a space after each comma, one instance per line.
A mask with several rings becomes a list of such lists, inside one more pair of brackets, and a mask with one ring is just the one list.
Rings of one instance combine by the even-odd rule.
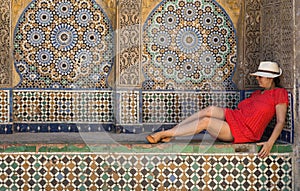
[[94, 0], [34, 0], [14, 33], [17, 88], [107, 89], [113, 31]]

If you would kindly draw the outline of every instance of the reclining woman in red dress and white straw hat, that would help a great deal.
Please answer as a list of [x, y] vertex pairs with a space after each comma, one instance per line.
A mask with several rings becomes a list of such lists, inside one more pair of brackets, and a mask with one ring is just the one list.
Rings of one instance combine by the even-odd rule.
[[282, 70], [276, 62], [261, 62], [255, 76], [262, 90], [238, 104], [237, 109], [210, 106], [200, 110], [172, 129], [148, 135], [149, 143], [169, 142], [176, 136], [189, 136], [206, 130], [222, 141], [245, 143], [261, 139], [265, 128], [276, 114], [276, 125], [268, 141], [259, 143], [262, 149], [259, 156], [269, 155], [273, 144], [280, 135], [288, 107], [288, 93], [279, 86]]

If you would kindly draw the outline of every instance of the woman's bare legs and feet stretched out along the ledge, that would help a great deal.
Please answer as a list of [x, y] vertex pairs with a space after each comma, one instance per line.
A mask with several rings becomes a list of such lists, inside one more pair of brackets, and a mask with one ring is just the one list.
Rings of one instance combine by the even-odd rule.
[[220, 140], [233, 141], [233, 136], [227, 122], [211, 117], [204, 117], [202, 119], [190, 121], [189, 123], [178, 124], [172, 129], [149, 135], [147, 140], [150, 143], [157, 143], [164, 139], [170, 140], [171, 137], [195, 135], [203, 130], [207, 130], [209, 134]]

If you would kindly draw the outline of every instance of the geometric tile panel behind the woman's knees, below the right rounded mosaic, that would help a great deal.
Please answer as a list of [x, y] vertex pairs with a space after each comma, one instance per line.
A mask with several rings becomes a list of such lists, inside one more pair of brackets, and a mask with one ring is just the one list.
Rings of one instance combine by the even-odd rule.
[[143, 123], [178, 123], [210, 105], [236, 108], [240, 92], [143, 92]]

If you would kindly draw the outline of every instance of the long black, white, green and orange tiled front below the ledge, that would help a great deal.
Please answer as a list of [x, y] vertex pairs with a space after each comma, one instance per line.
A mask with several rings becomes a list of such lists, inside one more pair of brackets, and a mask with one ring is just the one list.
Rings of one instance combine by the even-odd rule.
[[272, 155], [1, 154], [0, 190], [292, 190]]

